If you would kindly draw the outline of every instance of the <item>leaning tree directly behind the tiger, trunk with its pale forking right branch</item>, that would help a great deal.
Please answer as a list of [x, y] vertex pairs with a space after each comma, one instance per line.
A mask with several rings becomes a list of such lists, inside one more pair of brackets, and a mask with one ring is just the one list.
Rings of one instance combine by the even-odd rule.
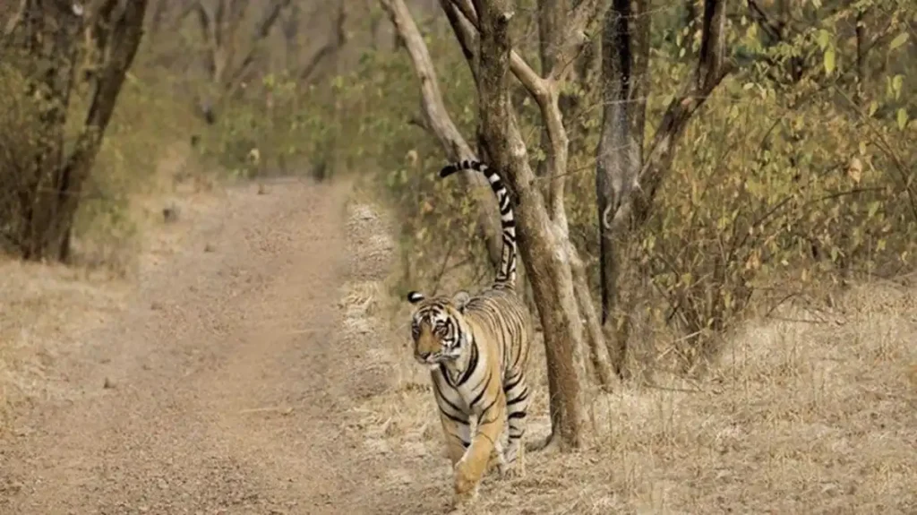
[[[584, 348], [583, 325], [571, 270], [574, 250], [564, 210], [564, 177], [567, 169], [568, 138], [558, 107], [560, 84], [569, 64], [581, 49], [585, 29], [600, 10], [598, 1], [586, 0], [570, 16], [555, 66], [546, 77], [535, 73], [518, 53], [512, 51], [509, 3], [479, 0], [475, 13], [463, 12], [477, 21], [479, 49], [479, 109], [481, 133], [492, 164], [504, 170], [507, 182], [518, 198], [516, 208], [521, 254], [529, 271], [532, 290], [545, 337], [552, 435], [561, 449], [582, 444], [582, 376], [577, 354]], [[509, 102], [507, 71], [513, 71], [541, 107], [551, 143], [547, 159], [551, 173], [546, 202], [528, 165], [525, 141]]]

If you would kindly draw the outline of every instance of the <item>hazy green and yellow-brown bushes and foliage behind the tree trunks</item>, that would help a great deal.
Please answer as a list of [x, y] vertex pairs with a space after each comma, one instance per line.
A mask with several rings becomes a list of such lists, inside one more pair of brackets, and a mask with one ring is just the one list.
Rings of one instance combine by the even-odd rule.
[[[3, 7], [5, 25], [13, 4]], [[407, 4], [448, 112], [473, 141], [476, 84], [446, 16], [436, 1]], [[694, 72], [703, 3], [641, 5], [641, 16], [651, 19], [648, 146]], [[808, 315], [825, 312], [851, 285], [892, 280], [910, 287], [917, 9], [907, 0], [762, 0], [726, 8], [724, 55], [732, 70], [685, 127], [646, 222], [621, 242], [623, 301], [613, 324], [626, 348], [624, 378], [689, 377], [753, 315], [799, 314], [784, 309], [790, 304]], [[519, 0], [513, 27], [516, 49], [537, 67], [536, 13], [534, 0]], [[129, 276], [138, 250], [132, 242], [150, 220], [162, 221], [169, 207], [162, 199], [171, 193], [303, 174], [356, 178], [360, 196], [389, 213], [400, 258], [385, 285], [388, 299], [490, 279], [476, 236], [478, 206], [460, 182], [436, 176], [445, 154], [426, 128], [414, 66], [377, 2], [154, 0], [144, 29], [79, 195], [72, 262]], [[597, 45], [601, 34], [590, 36]], [[6, 45], [0, 59], [0, 245], [16, 257], [21, 193], [35, 188], [23, 181], [30, 165], [21, 157], [40, 146], [31, 136], [44, 134], [45, 107], [25, 93], [31, 68], [6, 59], [20, 55], [14, 50]], [[570, 237], [598, 299], [601, 51], [592, 48], [580, 60], [582, 72], [565, 91], [572, 105], [566, 195]], [[79, 139], [94, 92], [91, 64], [74, 64], [65, 152]], [[539, 114], [512, 83], [535, 167], [545, 159]], [[170, 166], [162, 165], [164, 156], [174, 156]], [[405, 308], [389, 305], [386, 318], [400, 320]], [[856, 332], [856, 341], [870, 331]], [[779, 338], [797, 336], [830, 339]], [[913, 356], [899, 343], [877, 359]], [[757, 377], [757, 369], [743, 370]], [[626, 428], [614, 431], [621, 437]], [[678, 429], [659, 431], [653, 434], [666, 445], [688, 438]]]

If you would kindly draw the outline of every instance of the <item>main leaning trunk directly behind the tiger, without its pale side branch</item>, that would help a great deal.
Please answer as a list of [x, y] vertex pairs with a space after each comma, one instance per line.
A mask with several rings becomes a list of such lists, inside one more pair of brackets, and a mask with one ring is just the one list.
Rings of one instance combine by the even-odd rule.
[[545, 337], [552, 434], [559, 437], [561, 449], [576, 448], [582, 444], [582, 399], [575, 351], [582, 347], [583, 333], [563, 241], [566, 235], [560, 234], [557, 222], [548, 215], [544, 196], [527, 163], [525, 141], [510, 110], [509, 3], [485, 0], [474, 4], [481, 45], [481, 134], [493, 166], [504, 170], [518, 199], [519, 247]]

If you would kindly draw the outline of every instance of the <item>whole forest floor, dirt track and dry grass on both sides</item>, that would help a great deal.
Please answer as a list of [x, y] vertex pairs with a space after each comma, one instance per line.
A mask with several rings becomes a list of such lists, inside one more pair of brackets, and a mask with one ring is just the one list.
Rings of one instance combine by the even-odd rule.
[[[0, 513], [446, 512], [390, 224], [358, 199], [186, 195], [131, 279], [0, 263]], [[915, 292], [857, 287], [830, 319], [750, 324], [702, 380], [590, 392], [587, 446], [486, 478], [470, 512], [913, 513]]]

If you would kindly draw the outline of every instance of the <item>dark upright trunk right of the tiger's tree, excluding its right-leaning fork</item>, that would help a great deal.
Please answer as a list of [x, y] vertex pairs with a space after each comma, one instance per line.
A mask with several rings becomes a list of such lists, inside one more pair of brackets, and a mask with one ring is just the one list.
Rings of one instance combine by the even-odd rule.
[[[646, 0], [614, 0], [602, 30], [602, 136], [596, 156], [599, 217], [616, 212], [643, 168], [649, 26]], [[599, 225], [602, 328], [613, 368], [624, 378], [627, 312], [619, 309], [624, 233]]]

